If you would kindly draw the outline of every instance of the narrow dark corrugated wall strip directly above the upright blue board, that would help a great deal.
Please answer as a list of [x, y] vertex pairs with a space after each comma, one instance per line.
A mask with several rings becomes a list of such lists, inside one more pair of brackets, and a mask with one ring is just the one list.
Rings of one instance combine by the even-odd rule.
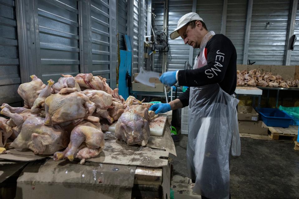
[[118, 0], [117, 1], [117, 30], [119, 33], [119, 49], [126, 50], [126, 44], [124, 40], [124, 35], [127, 35], [127, 10], [128, 10], [128, 1], [127, 0]]

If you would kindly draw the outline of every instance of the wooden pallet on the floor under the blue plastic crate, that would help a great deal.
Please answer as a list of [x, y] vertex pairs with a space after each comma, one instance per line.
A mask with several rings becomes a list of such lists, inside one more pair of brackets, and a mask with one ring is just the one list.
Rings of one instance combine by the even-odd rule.
[[298, 126], [291, 126], [289, 128], [268, 127], [272, 140], [297, 140]]

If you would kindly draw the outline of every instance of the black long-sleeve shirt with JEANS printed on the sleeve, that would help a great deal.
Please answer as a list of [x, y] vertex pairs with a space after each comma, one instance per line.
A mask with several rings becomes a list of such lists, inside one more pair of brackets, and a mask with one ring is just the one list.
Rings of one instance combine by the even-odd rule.
[[[218, 83], [229, 95], [232, 95], [237, 85], [237, 52], [229, 38], [222, 34], [214, 35], [206, 44], [204, 53], [207, 65], [180, 70], [178, 83], [180, 86], [205, 86]], [[178, 97], [183, 107], [189, 105], [190, 89]]]

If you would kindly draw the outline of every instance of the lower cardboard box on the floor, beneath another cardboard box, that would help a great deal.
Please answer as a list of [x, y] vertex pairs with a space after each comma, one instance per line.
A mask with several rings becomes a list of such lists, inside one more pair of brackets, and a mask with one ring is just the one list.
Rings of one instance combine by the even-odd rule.
[[240, 133], [250, 133], [258, 135], [268, 135], [268, 127], [263, 121], [238, 121]]

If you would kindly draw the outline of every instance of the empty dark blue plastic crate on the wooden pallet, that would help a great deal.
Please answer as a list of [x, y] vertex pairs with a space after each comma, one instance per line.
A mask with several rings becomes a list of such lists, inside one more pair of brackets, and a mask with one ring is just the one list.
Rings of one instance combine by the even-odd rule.
[[283, 127], [287, 128], [290, 125], [292, 118], [279, 109], [260, 108], [259, 113], [263, 122], [268, 127]]

